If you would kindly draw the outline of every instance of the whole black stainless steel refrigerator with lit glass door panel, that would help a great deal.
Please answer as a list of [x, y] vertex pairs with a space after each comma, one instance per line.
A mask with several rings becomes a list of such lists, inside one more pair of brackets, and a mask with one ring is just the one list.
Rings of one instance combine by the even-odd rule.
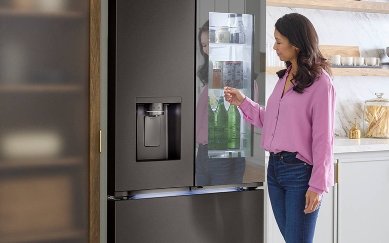
[[253, 127], [220, 99], [255, 96], [255, 16], [200, 11], [108, 1], [107, 242], [263, 242]]

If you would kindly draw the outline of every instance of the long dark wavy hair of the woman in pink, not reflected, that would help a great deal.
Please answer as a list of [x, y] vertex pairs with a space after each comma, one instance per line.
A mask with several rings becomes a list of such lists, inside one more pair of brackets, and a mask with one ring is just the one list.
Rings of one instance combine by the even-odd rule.
[[[322, 74], [322, 68], [331, 76], [331, 66], [319, 50], [319, 37], [314, 25], [305, 16], [297, 13], [286, 14], [275, 24], [276, 29], [288, 38], [290, 44], [300, 51], [297, 56], [297, 72], [293, 75], [293, 90], [302, 93], [314, 84], [316, 77]], [[286, 66], [291, 65], [290, 61]], [[279, 78], [287, 69], [277, 72]]]

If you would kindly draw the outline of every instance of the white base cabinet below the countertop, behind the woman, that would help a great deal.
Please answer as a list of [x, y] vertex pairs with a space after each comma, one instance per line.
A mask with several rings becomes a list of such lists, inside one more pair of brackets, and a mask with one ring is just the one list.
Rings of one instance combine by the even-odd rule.
[[[323, 195], [314, 242], [387, 242], [389, 150], [342, 152], [334, 158], [335, 186]], [[265, 195], [265, 242], [284, 242]]]

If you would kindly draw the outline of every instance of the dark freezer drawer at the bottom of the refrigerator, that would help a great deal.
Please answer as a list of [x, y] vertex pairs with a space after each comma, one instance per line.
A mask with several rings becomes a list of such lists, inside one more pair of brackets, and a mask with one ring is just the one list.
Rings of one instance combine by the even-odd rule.
[[263, 242], [264, 191], [108, 201], [108, 242]]

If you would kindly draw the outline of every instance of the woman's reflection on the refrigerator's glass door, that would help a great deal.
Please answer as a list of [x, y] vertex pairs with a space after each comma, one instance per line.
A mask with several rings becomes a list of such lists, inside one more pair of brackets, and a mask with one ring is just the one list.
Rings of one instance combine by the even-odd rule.
[[204, 90], [196, 108], [196, 142], [199, 150], [196, 156], [196, 185], [238, 184], [243, 182], [246, 160], [240, 158], [208, 158], [208, 42], [209, 22], [199, 29], [200, 53], [204, 64], [199, 66], [199, 76]]

